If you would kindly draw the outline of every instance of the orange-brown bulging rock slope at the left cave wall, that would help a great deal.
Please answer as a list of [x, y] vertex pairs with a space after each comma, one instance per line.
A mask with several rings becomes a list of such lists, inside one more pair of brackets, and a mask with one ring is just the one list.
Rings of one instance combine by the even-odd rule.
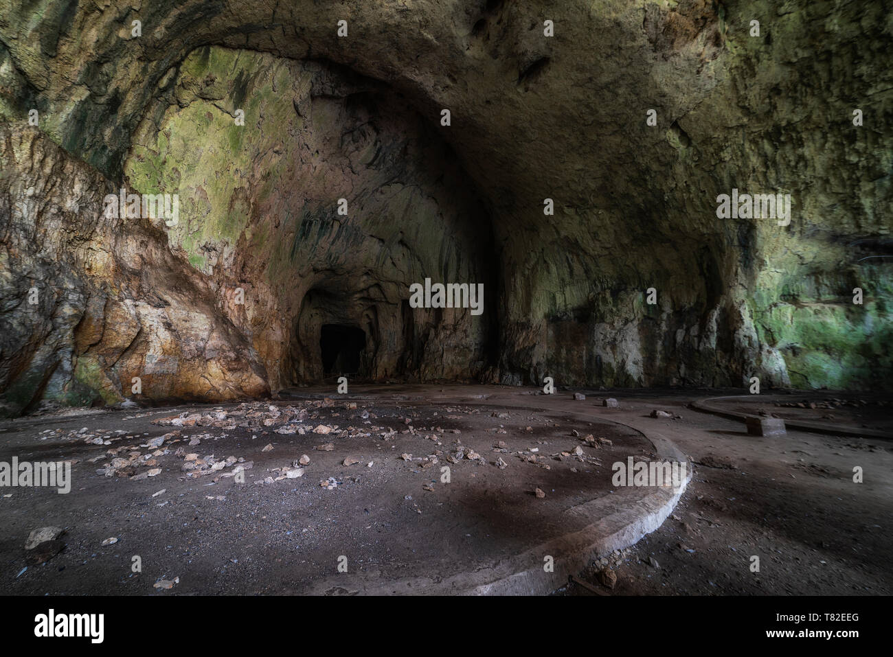
[[41, 398], [118, 403], [269, 392], [202, 277], [138, 219], [106, 219], [113, 185], [37, 130], [0, 125], [4, 413]]

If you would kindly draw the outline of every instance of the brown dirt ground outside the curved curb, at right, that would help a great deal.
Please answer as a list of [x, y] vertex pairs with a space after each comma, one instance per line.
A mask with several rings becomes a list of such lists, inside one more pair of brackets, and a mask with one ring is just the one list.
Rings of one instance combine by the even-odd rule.
[[[743, 423], [689, 410], [690, 398], [630, 393], [614, 415], [638, 416], [637, 426], [671, 438], [695, 462], [695, 475], [661, 528], [621, 555], [592, 563], [583, 581], [612, 595], [890, 595], [893, 442], [800, 431], [748, 436]], [[865, 395], [790, 395], [794, 403], [805, 401], [806, 409], [795, 407], [802, 420], [827, 415], [822, 400], [832, 398], [857, 403]], [[739, 403], [737, 410], [789, 411], [778, 405], [791, 403], [786, 396], [773, 399], [756, 407]], [[868, 400], [867, 409], [853, 404], [848, 408], [857, 412], [833, 412], [835, 420], [889, 427], [888, 403]], [[653, 408], [681, 418], [647, 418]], [[864, 470], [864, 483], [854, 483], [855, 466]], [[753, 556], [759, 572], [750, 570]], [[605, 568], [616, 577], [613, 590], [597, 575]], [[560, 593], [594, 595], [580, 585]]]

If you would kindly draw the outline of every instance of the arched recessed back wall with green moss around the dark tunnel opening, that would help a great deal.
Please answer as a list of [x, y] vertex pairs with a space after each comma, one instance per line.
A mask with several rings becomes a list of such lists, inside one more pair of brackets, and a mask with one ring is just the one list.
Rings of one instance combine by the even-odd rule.
[[482, 283], [485, 302], [495, 290], [486, 214], [455, 154], [405, 99], [330, 65], [203, 48], [167, 102], [140, 126], [129, 187], [186, 199], [171, 245], [219, 286], [271, 387], [321, 377], [330, 323], [367, 334], [364, 377], [480, 378], [495, 312], [405, 303], [426, 277]]

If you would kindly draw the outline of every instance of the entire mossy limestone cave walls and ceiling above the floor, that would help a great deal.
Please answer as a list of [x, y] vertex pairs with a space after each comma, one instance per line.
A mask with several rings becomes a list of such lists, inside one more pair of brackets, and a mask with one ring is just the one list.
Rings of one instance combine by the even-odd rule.
[[889, 388], [891, 39], [871, 2], [0, 0], [4, 403], [263, 395], [330, 325], [372, 379]]

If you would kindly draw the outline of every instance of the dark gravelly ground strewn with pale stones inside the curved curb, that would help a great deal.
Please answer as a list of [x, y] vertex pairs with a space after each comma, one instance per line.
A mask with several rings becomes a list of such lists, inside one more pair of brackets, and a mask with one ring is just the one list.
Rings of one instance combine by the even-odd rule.
[[[447, 578], [585, 526], [563, 511], [593, 498], [635, 503], [637, 490], [611, 490], [610, 463], [651, 447], [630, 428], [567, 412], [389, 399], [188, 405], [2, 428], [2, 462], [73, 462], [70, 494], [0, 489], [11, 495], [0, 497], [0, 582], [24, 595], [145, 595], [160, 581], [179, 594], [301, 593], [338, 572], [342, 556], [365, 578]], [[230, 476], [239, 468], [244, 483]], [[64, 549], [29, 564], [23, 545], [43, 526], [65, 529]]]

